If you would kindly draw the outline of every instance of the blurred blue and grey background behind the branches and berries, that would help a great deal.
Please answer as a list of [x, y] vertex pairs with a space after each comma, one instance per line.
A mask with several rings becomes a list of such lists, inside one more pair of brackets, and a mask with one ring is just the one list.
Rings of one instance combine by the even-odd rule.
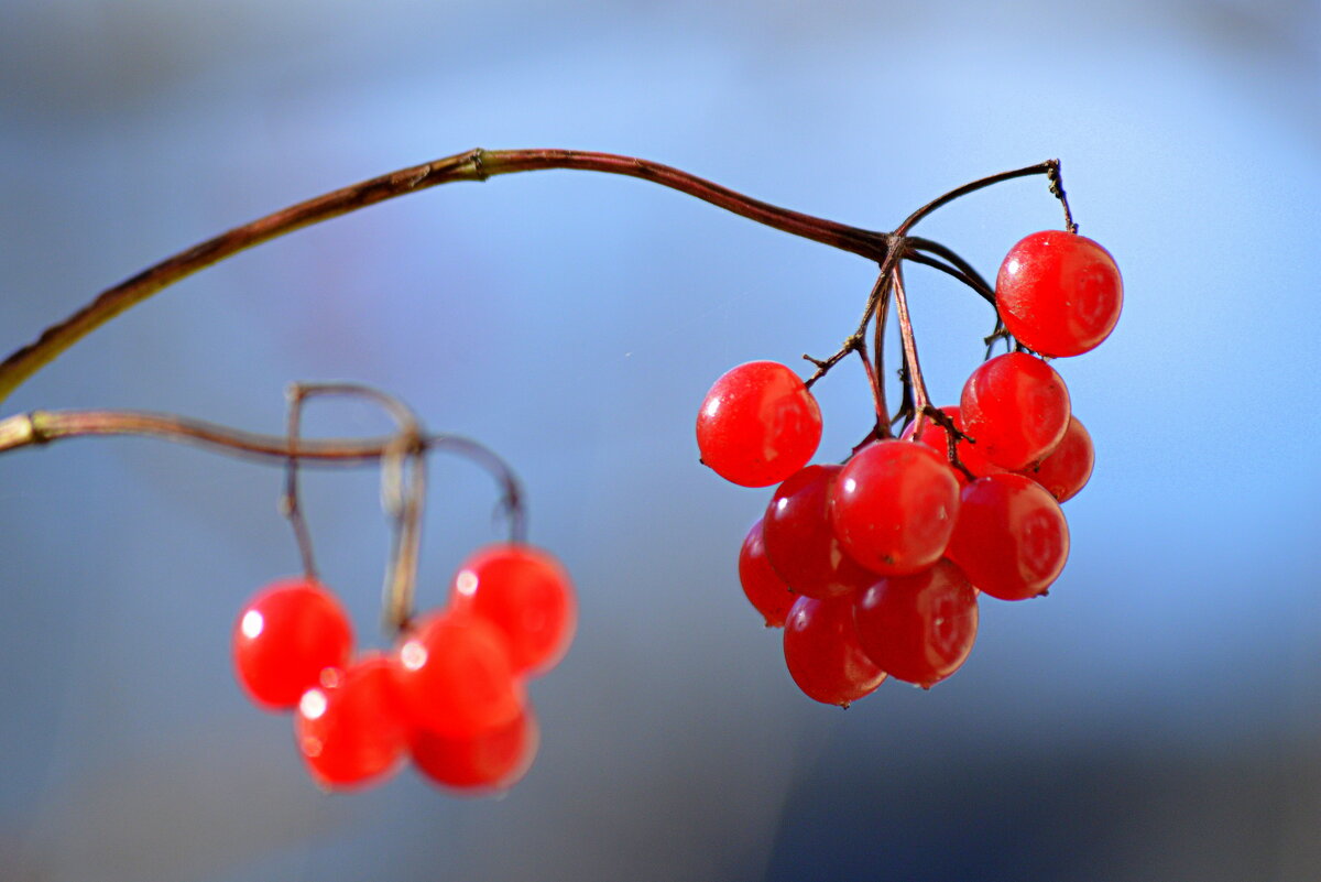
[[[848, 712], [801, 696], [734, 574], [769, 491], [696, 461], [738, 362], [824, 355], [857, 257], [643, 182], [431, 190], [184, 281], [3, 409], [283, 426], [353, 379], [522, 474], [581, 623], [532, 689], [542, 753], [503, 799], [404, 772], [305, 778], [229, 631], [297, 568], [276, 469], [148, 440], [0, 458], [0, 878], [1299, 879], [1321, 877], [1321, 7], [1020, 3], [0, 3], [0, 349], [236, 223], [472, 147], [668, 162], [889, 228], [964, 181], [1063, 158], [1123, 321], [1061, 364], [1096, 441], [1049, 599], [984, 602], [968, 664]], [[985, 273], [1055, 227], [1041, 180], [922, 227]], [[933, 391], [985, 306], [909, 275]], [[820, 456], [868, 425], [818, 386]], [[374, 433], [321, 404], [309, 429]], [[421, 599], [497, 539], [489, 479], [436, 461]], [[376, 474], [308, 479], [365, 642]]]

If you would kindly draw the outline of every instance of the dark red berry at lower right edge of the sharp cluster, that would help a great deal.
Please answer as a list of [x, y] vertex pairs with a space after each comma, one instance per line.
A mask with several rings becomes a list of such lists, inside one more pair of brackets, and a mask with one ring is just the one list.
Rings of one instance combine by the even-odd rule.
[[991, 597], [1037, 597], [1065, 568], [1069, 524], [1059, 503], [1032, 478], [978, 478], [963, 489], [948, 556]]

